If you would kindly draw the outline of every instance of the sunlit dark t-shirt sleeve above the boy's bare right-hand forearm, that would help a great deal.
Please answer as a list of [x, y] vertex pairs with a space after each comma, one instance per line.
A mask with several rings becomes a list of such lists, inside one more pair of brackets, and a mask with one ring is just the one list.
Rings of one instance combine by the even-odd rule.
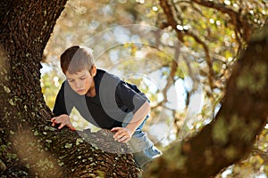
[[116, 101], [119, 105], [127, 107], [128, 111], [135, 113], [146, 101], [144, 93], [137, 93], [130, 85], [121, 81], [116, 87]]

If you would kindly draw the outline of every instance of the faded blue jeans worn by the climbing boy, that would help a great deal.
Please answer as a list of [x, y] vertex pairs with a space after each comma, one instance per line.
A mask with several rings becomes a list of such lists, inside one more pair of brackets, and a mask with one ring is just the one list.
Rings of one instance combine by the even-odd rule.
[[[126, 127], [130, 123], [132, 117], [132, 114], [128, 114], [125, 117], [122, 126]], [[162, 152], [155, 148], [154, 143], [147, 137], [147, 134], [142, 131], [142, 127], [147, 122], [148, 117], [149, 116], [147, 116], [145, 120], [138, 126], [135, 133], [132, 135], [130, 142], [128, 142], [135, 162], [141, 168], [154, 158], [162, 155]]]

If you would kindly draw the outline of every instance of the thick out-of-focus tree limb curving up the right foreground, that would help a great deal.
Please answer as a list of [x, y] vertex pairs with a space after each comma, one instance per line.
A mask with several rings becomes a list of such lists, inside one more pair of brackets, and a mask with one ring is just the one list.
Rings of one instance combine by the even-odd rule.
[[268, 28], [258, 33], [232, 71], [214, 123], [173, 143], [145, 177], [210, 177], [247, 157], [268, 119]]

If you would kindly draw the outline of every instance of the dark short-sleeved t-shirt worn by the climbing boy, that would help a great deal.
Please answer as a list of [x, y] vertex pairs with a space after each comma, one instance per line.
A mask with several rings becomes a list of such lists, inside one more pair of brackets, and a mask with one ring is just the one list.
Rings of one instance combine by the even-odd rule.
[[134, 114], [148, 101], [136, 85], [130, 85], [104, 70], [96, 70], [94, 82], [96, 96], [88, 97], [75, 93], [65, 80], [54, 103], [54, 115], [70, 115], [75, 107], [91, 124], [111, 129], [121, 126], [128, 113]]

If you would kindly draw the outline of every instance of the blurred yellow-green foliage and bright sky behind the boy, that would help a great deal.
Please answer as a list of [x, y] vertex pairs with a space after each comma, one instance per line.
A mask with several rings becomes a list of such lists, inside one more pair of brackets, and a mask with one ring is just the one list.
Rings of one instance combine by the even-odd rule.
[[[86, 45], [98, 68], [147, 93], [152, 110], [145, 129], [164, 149], [214, 121], [231, 69], [255, 29], [267, 25], [267, 13], [266, 0], [69, 0], [44, 53], [46, 103], [53, 109], [64, 80], [61, 53]], [[71, 122], [96, 130], [76, 110]], [[217, 177], [267, 177], [267, 132], [268, 125], [250, 157]]]

